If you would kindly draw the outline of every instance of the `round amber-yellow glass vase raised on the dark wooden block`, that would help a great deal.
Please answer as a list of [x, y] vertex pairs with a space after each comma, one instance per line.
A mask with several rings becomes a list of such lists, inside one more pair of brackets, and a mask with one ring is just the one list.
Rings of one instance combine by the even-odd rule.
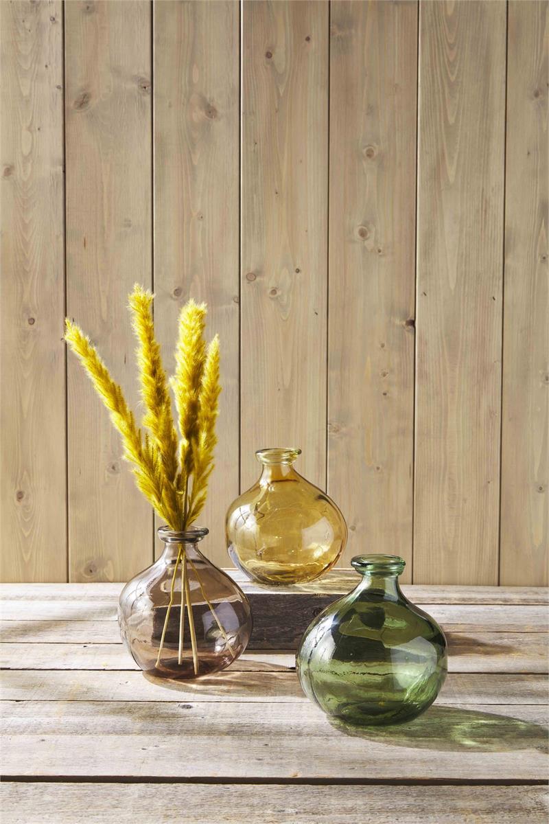
[[230, 558], [259, 583], [313, 581], [336, 563], [347, 541], [336, 504], [295, 471], [300, 452], [256, 452], [261, 475], [227, 512]]

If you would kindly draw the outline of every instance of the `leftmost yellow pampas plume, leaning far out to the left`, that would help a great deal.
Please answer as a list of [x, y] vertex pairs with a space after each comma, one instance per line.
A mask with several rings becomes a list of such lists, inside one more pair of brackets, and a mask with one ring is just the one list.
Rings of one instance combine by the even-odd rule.
[[80, 358], [91, 382], [99, 393], [103, 403], [110, 412], [114, 426], [122, 437], [124, 457], [133, 464], [138, 488], [150, 501], [156, 512], [176, 529], [172, 524], [173, 513], [165, 506], [163, 477], [159, 461], [146, 440], [142, 443], [141, 432], [135, 424], [135, 419], [123, 396], [123, 391], [110, 377], [109, 370], [95, 350], [89, 338], [72, 323], [65, 321], [65, 340], [72, 351]]

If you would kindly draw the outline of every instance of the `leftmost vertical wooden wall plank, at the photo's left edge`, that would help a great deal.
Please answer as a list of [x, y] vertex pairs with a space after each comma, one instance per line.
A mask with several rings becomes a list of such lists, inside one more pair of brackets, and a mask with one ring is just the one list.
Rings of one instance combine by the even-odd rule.
[[63, 9], [0, 18], [2, 580], [65, 581]]

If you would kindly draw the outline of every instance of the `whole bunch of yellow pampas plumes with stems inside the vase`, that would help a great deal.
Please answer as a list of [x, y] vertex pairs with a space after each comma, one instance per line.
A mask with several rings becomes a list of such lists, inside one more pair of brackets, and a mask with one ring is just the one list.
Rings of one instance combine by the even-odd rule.
[[[161, 348], [155, 338], [152, 316], [153, 295], [137, 283], [129, 296], [133, 331], [137, 337], [137, 365], [145, 414], [137, 427], [132, 411], [120, 386], [110, 377], [89, 338], [67, 319], [65, 339], [80, 358], [91, 382], [110, 412], [114, 426], [122, 438], [124, 457], [132, 464], [137, 487], [151, 502], [170, 529], [185, 531], [196, 521], [207, 496], [207, 484], [212, 473], [216, 446], [216, 419], [219, 408], [219, 339], [209, 345], [204, 340], [206, 304], [193, 300], [179, 315], [179, 337], [175, 349], [175, 374], [170, 378], [178, 414], [179, 435], [174, 425], [168, 380], [162, 366]], [[202, 580], [192, 559], [187, 558], [184, 544], [179, 545], [171, 581], [170, 601], [166, 610], [161, 643], [156, 664], [161, 659], [165, 633], [174, 603], [178, 569], [181, 579], [181, 610], [179, 618], [179, 664], [183, 658], [184, 611], [193, 652], [193, 667], [198, 674], [198, 645], [194, 630], [193, 609], [188, 582], [188, 564], [198, 580], [202, 597], [212, 611], [226, 644], [226, 632], [217, 619], [212, 603], [207, 599]]]

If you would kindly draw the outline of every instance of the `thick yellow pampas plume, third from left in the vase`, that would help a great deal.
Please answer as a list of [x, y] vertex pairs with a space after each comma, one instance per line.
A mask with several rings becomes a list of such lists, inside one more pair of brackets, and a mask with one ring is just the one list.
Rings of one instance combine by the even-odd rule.
[[181, 474], [178, 486], [180, 491], [185, 492], [185, 504], [188, 477], [193, 471], [193, 441], [198, 436], [200, 387], [206, 358], [206, 344], [203, 339], [205, 323], [206, 305], [197, 304], [193, 300], [188, 301], [179, 315], [175, 374], [170, 381], [179, 414]]

